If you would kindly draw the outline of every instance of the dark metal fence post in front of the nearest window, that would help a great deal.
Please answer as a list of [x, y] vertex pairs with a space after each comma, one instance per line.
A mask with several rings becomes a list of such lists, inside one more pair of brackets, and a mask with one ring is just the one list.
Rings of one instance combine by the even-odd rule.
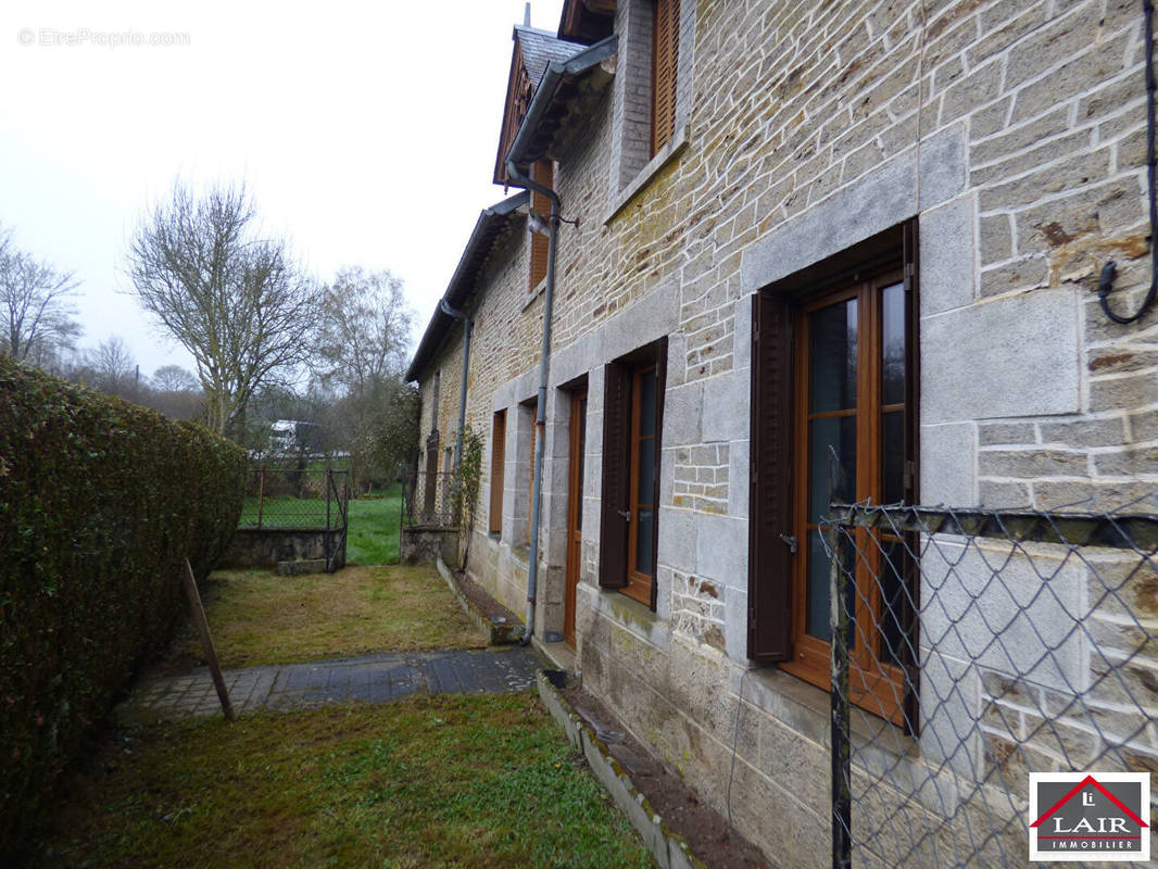
[[852, 648], [852, 606], [856, 590], [841, 561], [842, 530], [837, 525], [826, 532], [829, 540], [829, 587], [833, 596], [831, 664], [831, 780], [833, 780], [833, 869], [848, 869], [852, 859], [851, 753], [849, 743], [849, 651]]

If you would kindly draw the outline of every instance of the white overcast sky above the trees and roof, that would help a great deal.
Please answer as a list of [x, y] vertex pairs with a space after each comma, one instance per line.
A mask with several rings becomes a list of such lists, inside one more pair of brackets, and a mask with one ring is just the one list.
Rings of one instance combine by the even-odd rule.
[[[556, 29], [560, 8], [535, 0], [532, 23]], [[142, 374], [192, 367], [124, 292], [127, 239], [177, 177], [244, 181], [322, 279], [391, 270], [420, 334], [504, 196], [491, 174], [522, 15], [522, 0], [5, 0], [0, 225], [76, 273], [81, 346], [119, 336]]]

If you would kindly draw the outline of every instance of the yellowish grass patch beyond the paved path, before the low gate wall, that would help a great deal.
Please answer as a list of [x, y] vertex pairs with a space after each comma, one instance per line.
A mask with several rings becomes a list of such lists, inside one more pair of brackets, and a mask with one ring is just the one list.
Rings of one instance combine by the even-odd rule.
[[[486, 645], [428, 564], [347, 567], [293, 577], [219, 570], [201, 597], [223, 667]], [[198, 666], [204, 666], [201, 647], [185, 627], [157, 670]]]

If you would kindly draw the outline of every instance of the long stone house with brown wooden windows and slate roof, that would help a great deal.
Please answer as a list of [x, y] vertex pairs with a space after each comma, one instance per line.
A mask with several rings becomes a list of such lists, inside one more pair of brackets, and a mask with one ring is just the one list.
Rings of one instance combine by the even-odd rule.
[[[1158, 313], [1114, 323], [1097, 292], [1111, 260], [1112, 308], [1151, 283], [1143, 22], [1116, 0], [567, 0], [557, 34], [514, 29], [494, 181], [558, 196], [547, 389], [532, 189], [482, 212], [410, 366], [422, 469], [450, 466], [464, 395], [485, 441], [469, 575], [521, 613], [534, 542], [547, 651], [785, 866], [830, 855], [829, 499], [1158, 489]], [[1028, 621], [1084, 599], [1071, 568]], [[1090, 667], [1069, 640], [1051, 669], [935, 666], [921, 605], [904, 698], [873, 606], [856, 702], [922, 762], [967, 720], [950, 766], [992, 765], [982, 711], [1007, 698], [979, 662], [1039, 698]], [[928, 702], [940, 686], [960, 702]]]

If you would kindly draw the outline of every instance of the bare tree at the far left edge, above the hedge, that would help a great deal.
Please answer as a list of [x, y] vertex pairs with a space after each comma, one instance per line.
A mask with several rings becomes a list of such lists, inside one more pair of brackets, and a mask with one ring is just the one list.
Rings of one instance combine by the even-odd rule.
[[17, 362], [52, 367], [81, 331], [72, 319], [76, 286], [72, 272], [16, 250], [12, 233], [0, 231], [0, 352]]

